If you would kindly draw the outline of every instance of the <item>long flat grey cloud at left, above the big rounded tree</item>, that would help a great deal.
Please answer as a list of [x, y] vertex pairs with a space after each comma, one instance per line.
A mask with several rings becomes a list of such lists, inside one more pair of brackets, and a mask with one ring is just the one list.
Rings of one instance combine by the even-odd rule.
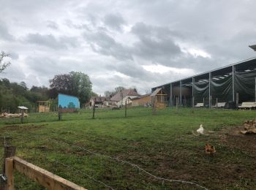
[[26, 42], [51, 47], [53, 49], [66, 49], [67, 47], [78, 46], [78, 42], [75, 37], [59, 37], [58, 39], [52, 34], [28, 34], [26, 36]]

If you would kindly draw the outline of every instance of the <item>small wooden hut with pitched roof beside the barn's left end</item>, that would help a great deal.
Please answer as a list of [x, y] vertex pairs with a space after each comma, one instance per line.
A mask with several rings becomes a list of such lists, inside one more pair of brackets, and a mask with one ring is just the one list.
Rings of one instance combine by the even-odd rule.
[[157, 88], [151, 94], [151, 101], [153, 107], [156, 107], [157, 109], [163, 109], [167, 107], [167, 93], [163, 88]]

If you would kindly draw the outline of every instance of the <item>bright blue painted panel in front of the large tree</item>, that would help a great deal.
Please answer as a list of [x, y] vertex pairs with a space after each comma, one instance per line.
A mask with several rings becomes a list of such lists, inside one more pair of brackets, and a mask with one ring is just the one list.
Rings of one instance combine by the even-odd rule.
[[59, 107], [62, 108], [80, 108], [79, 99], [75, 96], [59, 94]]

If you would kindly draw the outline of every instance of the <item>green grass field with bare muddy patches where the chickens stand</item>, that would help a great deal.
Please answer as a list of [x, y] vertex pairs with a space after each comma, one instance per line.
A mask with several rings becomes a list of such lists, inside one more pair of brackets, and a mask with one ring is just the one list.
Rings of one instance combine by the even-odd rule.
[[[58, 121], [57, 113], [34, 113], [23, 124], [1, 118], [0, 137], [12, 137], [20, 158], [87, 189], [109, 189], [103, 183], [113, 189], [200, 189], [158, 180], [117, 159], [207, 189], [256, 189], [256, 137], [238, 132], [244, 120], [255, 119], [255, 111], [168, 108], [152, 115], [150, 108], [130, 108], [127, 118], [124, 110], [95, 115], [91, 119], [91, 110], [80, 110]], [[206, 134], [195, 136], [200, 123]], [[214, 156], [204, 153], [206, 142], [215, 146]], [[43, 189], [19, 174], [15, 186]]]

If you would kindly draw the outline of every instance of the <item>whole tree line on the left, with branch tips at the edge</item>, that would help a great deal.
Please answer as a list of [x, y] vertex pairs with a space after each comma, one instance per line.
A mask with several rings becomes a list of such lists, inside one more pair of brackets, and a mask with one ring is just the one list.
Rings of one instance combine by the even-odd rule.
[[[10, 62], [4, 61], [9, 55], [0, 53], [0, 77], [1, 73]], [[92, 83], [88, 75], [83, 72], [69, 72], [67, 74], [55, 75], [49, 80], [50, 88], [45, 86], [32, 86], [28, 88], [25, 82], [13, 83], [7, 78], [0, 78], [0, 109], [10, 110], [14, 113], [18, 106], [23, 105], [34, 110], [37, 107], [37, 101], [50, 101], [51, 107], [58, 104], [58, 93], [77, 96], [80, 99], [80, 105], [83, 106], [89, 102], [92, 92]]]

